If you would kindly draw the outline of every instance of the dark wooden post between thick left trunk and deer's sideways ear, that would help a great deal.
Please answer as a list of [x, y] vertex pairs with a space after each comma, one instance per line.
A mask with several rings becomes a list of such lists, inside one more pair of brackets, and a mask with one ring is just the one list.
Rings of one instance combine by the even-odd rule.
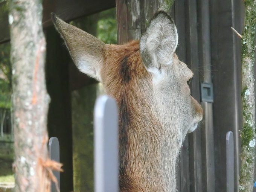
[[47, 116], [49, 137], [57, 137], [60, 143], [61, 192], [73, 191], [72, 119], [69, 90], [69, 53], [61, 46], [63, 41], [55, 29], [46, 33], [47, 58], [46, 82], [51, 102]]

